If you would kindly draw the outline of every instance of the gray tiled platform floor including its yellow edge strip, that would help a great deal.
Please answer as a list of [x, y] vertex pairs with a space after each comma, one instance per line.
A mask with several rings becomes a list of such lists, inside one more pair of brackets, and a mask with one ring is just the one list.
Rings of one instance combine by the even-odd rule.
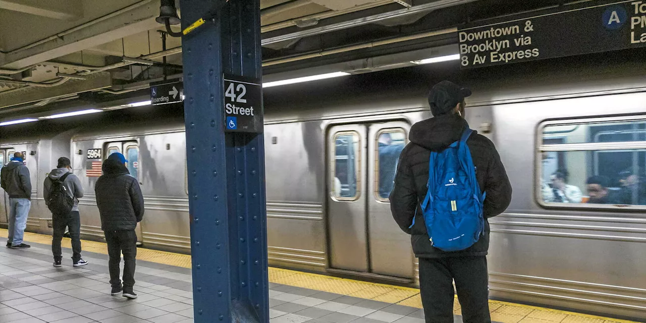
[[[6, 238], [6, 230], [0, 229]], [[52, 267], [51, 236], [25, 233], [30, 249], [0, 247], [2, 323], [193, 322], [191, 258], [138, 249], [136, 300], [112, 297], [107, 249], [83, 240], [87, 266], [72, 267], [63, 239], [63, 267]], [[0, 243], [5, 240], [0, 238]], [[123, 262], [122, 262], [123, 264]], [[423, 323], [419, 289], [269, 268], [271, 323]], [[630, 322], [567, 311], [490, 301], [503, 323]], [[455, 300], [455, 322], [461, 322]]]

